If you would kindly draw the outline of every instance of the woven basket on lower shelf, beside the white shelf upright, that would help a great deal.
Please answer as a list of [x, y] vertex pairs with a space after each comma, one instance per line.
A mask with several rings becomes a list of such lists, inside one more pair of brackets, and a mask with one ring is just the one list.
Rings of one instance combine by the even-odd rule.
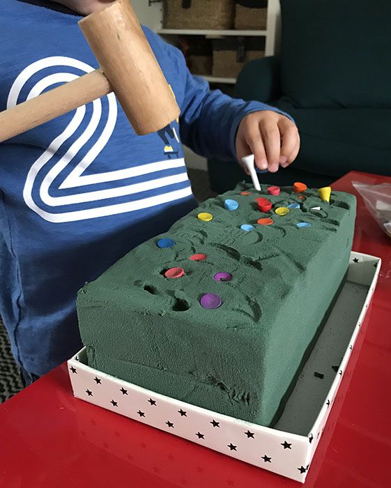
[[265, 38], [227, 38], [213, 41], [213, 70], [215, 77], [236, 78], [243, 66], [265, 56]]

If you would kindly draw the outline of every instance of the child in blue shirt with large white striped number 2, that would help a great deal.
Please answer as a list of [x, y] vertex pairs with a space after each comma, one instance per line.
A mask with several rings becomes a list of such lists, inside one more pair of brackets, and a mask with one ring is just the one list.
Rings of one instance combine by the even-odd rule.
[[[107, 3], [7, 0], [0, 110], [97, 68], [77, 21]], [[179, 122], [137, 136], [110, 94], [0, 144], [0, 313], [26, 384], [82, 346], [75, 298], [84, 282], [196, 206], [181, 142], [223, 160], [254, 153], [269, 171], [298, 153], [285, 114], [210, 91], [178, 49], [144, 32]]]

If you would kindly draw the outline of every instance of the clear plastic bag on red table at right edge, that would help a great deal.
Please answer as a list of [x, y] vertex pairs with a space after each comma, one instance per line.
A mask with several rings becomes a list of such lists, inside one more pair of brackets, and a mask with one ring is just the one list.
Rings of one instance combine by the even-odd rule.
[[353, 186], [364, 199], [369, 213], [391, 238], [391, 184], [366, 185], [353, 181]]

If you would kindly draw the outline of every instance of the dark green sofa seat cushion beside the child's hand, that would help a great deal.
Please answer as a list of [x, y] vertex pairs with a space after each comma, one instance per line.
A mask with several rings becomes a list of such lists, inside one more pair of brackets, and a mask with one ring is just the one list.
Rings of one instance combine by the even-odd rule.
[[391, 175], [391, 109], [300, 109], [286, 99], [277, 106], [298, 125], [300, 169], [335, 177], [353, 169]]

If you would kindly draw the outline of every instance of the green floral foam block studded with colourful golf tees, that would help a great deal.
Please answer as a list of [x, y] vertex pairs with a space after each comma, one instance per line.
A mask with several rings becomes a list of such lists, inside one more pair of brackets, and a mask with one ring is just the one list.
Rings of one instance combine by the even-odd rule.
[[354, 220], [343, 192], [240, 184], [204, 202], [79, 291], [89, 365], [272, 425], [344, 281]]

